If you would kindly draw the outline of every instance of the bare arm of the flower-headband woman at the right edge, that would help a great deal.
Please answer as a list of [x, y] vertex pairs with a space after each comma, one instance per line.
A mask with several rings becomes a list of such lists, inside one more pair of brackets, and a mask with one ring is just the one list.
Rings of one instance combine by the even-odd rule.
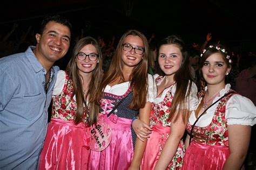
[[225, 169], [241, 169], [250, 144], [251, 126], [227, 125], [230, 156], [224, 165]]

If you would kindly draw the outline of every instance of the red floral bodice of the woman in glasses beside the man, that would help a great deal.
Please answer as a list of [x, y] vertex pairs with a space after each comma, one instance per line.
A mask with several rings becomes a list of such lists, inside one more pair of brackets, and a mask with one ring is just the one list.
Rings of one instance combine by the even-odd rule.
[[[71, 121], [75, 118], [77, 104], [74, 97], [71, 99], [72, 93], [73, 83], [66, 73], [65, 84], [62, 92], [58, 96], [52, 97], [52, 118], [60, 118], [64, 121]], [[85, 114], [83, 115], [83, 122], [87, 123]]]

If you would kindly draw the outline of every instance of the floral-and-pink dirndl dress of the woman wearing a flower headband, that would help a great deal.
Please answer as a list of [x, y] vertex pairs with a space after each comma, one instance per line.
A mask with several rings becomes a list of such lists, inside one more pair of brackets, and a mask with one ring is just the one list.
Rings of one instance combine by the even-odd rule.
[[[193, 139], [186, 150], [181, 169], [223, 169], [230, 155], [225, 111], [226, 103], [232, 95], [227, 95], [220, 100], [209, 125], [205, 127], [194, 126]], [[187, 124], [186, 129], [188, 133], [191, 133], [192, 125]]]

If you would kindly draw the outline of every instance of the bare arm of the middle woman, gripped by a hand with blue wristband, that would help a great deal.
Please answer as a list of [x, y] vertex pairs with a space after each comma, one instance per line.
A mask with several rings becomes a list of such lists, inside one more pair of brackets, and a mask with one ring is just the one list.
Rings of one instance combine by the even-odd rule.
[[[139, 109], [139, 119], [140, 121], [143, 121], [147, 125], [149, 125], [149, 117], [150, 117], [150, 111], [151, 111], [151, 102], [146, 102], [145, 107], [142, 109]], [[132, 163], [129, 169], [139, 169], [140, 164], [142, 162], [143, 154], [145, 151], [145, 147], [147, 144], [147, 139], [145, 138], [144, 141], [138, 140], [138, 137], [136, 139], [136, 144], [134, 148], [134, 154], [132, 158]]]

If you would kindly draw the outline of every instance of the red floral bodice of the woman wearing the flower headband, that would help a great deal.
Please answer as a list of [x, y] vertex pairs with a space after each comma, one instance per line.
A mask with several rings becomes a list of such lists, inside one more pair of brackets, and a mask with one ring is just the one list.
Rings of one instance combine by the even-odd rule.
[[[228, 94], [219, 101], [209, 125], [205, 127], [194, 126], [192, 133], [194, 141], [205, 145], [228, 146], [227, 121], [225, 118], [226, 104], [228, 99], [236, 94], [234, 90], [228, 90], [227, 93], [231, 91], [232, 94]], [[186, 125], [188, 133], [191, 133], [192, 126], [191, 124]]]

